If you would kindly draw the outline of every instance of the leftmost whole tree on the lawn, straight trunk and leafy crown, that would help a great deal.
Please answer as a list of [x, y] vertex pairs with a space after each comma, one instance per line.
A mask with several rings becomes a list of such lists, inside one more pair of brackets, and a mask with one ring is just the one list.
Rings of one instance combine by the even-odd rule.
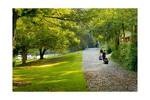
[[32, 23], [27, 17], [22, 17], [17, 22], [16, 28], [16, 48], [22, 55], [22, 64], [26, 63], [28, 50], [34, 42], [34, 32], [32, 31]]

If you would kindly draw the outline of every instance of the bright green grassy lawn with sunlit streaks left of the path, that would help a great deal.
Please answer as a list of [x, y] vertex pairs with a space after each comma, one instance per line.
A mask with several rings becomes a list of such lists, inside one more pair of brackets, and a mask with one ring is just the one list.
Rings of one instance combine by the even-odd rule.
[[82, 52], [14, 67], [13, 91], [87, 91]]

